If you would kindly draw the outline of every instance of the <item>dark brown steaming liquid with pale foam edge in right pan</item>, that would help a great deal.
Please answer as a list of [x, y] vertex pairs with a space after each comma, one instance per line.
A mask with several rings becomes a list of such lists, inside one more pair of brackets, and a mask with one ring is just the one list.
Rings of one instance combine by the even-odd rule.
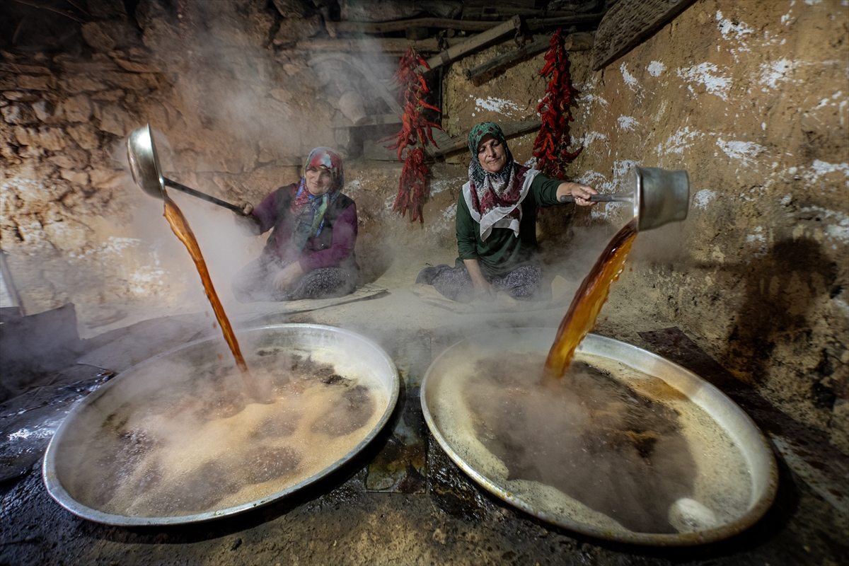
[[429, 395], [441, 434], [492, 484], [559, 524], [675, 534], [751, 503], [745, 457], [678, 389], [584, 353], [540, 384], [545, 354], [458, 349]]

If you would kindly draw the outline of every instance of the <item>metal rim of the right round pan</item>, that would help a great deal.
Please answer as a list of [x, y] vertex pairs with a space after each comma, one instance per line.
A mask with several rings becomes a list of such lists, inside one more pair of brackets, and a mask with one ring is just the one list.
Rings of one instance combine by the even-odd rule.
[[[453, 450], [453, 447], [441, 434], [441, 431], [439, 427], [436, 426], [436, 421], [434, 420], [434, 417], [430, 412], [430, 407], [427, 403], [427, 399], [429, 396], [428, 384], [429, 380], [430, 382], [432, 382], [434, 379], [436, 379], [430, 377], [433, 370], [437, 367], [441, 359], [449, 355], [449, 352], [451, 352], [454, 348], [460, 347], [465, 344], [471, 344], [473, 341], [486, 342], [488, 341], [487, 338], [493, 339], [498, 334], [511, 332], [547, 332], [551, 334], [550, 339], [554, 340], [555, 330], [555, 328], [502, 328], [498, 330], [492, 330], [486, 333], [475, 334], [474, 336], [470, 336], [469, 338], [460, 340], [458, 343], [452, 345], [451, 347], [447, 348], [447, 350], [443, 351], [430, 364], [430, 367], [428, 367], [427, 372], [424, 373], [424, 379], [422, 379], [420, 395], [422, 412], [424, 412], [424, 420], [427, 423], [431, 434], [434, 435], [436, 442], [439, 443], [439, 446], [441, 446], [442, 450], [447, 453], [448, 457], [450, 457], [453, 462], [458, 465], [459, 468], [461, 468], [466, 474], [468, 474], [472, 479], [474, 479], [478, 485], [481, 485], [481, 487], [488, 490], [494, 496], [498, 496], [498, 498], [510, 503], [514, 507], [518, 507], [526, 513], [530, 513], [531, 515], [534, 515], [537, 518], [541, 518], [544, 521], [547, 521], [548, 523], [556, 524], [560, 527], [564, 527], [565, 529], [574, 530], [584, 535], [594, 536], [599, 539], [605, 539], [609, 541], [620, 541], [629, 544], [647, 546], [694, 546], [706, 544], [708, 542], [721, 541], [723, 539], [727, 539], [730, 536], [736, 535], [742, 532], [743, 530], [748, 529], [749, 527], [751, 527], [752, 524], [755, 524], [760, 518], [762, 518], [764, 513], [767, 513], [767, 510], [769, 509], [769, 507], [772, 506], [773, 500], [775, 499], [775, 494], [778, 491], [779, 470], [775, 462], [775, 457], [773, 456], [773, 451], [769, 447], [767, 439], [764, 437], [761, 430], [757, 428], [757, 425], [751, 419], [751, 417], [749, 417], [748, 414], [746, 414], [736, 403], [734, 403], [734, 401], [728, 398], [728, 395], [725, 395], [720, 389], [717, 389], [717, 387], [712, 384], [709, 384], [708, 382], [706, 382], [706, 380], [700, 378], [695, 373], [690, 372], [688, 369], [678, 366], [678, 364], [666, 360], [666, 358], [663, 358], [661, 356], [657, 356], [647, 350], [638, 348], [637, 346], [626, 344], [625, 342], [621, 342], [619, 340], [606, 338], [604, 336], [599, 336], [598, 334], [588, 334], [587, 337], [582, 341], [581, 345], [578, 346], [578, 351], [584, 350], [584, 347], [586, 345], [593, 346], [593, 343], [595, 343], [595, 345], [604, 345], [607, 347], [619, 349], [621, 351], [628, 351], [632, 354], [637, 354], [644, 360], [651, 361], [661, 367], [674, 368], [680, 378], [683, 378], [690, 384], [694, 384], [698, 387], [700, 395], [710, 396], [716, 400], [721, 401], [723, 408], [725, 408], [728, 412], [731, 412], [733, 417], [739, 420], [741, 426], [750, 428], [747, 432], [756, 435], [756, 437], [759, 439], [758, 447], [760, 450], [760, 454], [758, 454], [757, 456], [767, 459], [768, 478], [766, 479], [764, 489], [762, 490], [760, 496], [757, 496], [756, 500], [751, 504], [751, 506], [742, 516], [740, 516], [731, 523], [722, 524], [713, 529], [700, 530], [694, 533], [661, 534], [638, 533], [634, 531], [624, 530], [604, 530], [591, 524], [586, 524], [579, 521], [564, 520], [554, 516], [551, 513], [546, 513], [546, 511], [543, 509], [533, 507], [531, 506], [531, 504], [523, 501], [514, 493], [511, 493], [507, 490], [503, 490], [500, 486], [493, 483], [491, 479], [487, 478], [485, 475], [475, 470], [475, 468], [470, 466], [468, 462], [465, 462], [464, 459], [460, 457], [456, 451]], [[593, 352], [589, 351], [588, 353]], [[626, 363], [624, 361], [622, 362]], [[655, 377], [663, 379], [661, 376]], [[664, 379], [664, 381], [666, 380]], [[672, 384], [670, 385], [672, 386]], [[684, 395], [687, 394], [684, 393]], [[690, 395], [687, 396], [692, 399]], [[706, 407], [702, 406], [702, 408], [705, 409], [706, 412], [711, 414], [711, 417], [716, 418], [716, 416], [711, 411], [706, 409]], [[750, 473], [754, 475], [751, 470]], [[755, 494], [753, 494], [753, 498], [754, 497]]]

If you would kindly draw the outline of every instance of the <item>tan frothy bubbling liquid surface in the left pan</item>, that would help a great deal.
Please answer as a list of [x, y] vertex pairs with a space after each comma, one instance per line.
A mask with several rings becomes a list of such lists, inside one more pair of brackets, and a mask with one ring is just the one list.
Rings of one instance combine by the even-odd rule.
[[118, 406], [76, 451], [66, 489], [104, 513], [172, 517], [298, 485], [353, 450], [388, 402], [368, 375], [340, 375], [320, 354], [261, 350], [251, 373], [267, 403], [231, 366]]

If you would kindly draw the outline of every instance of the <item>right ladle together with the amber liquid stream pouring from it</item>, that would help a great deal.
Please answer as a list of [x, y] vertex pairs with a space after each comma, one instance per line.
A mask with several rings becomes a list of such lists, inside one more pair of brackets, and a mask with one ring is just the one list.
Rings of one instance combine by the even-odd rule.
[[[593, 202], [631, 202], [633, 220], [629, 221], [604, 248], [593, 268], [575, 293], [569, 310], [557, 330], [543, 370], [543, 383], [562, 378], [575, 349], [595, 327], [602, 305], [613, 284], [625, 268], [628, 252], [637, 233], [687, 218], [689, 176], [687, 171], [666, 171], [657, 167], [635, 167], [633, 193], [593, 194]], [[571, 196], [562, 202], [574, 201]]]

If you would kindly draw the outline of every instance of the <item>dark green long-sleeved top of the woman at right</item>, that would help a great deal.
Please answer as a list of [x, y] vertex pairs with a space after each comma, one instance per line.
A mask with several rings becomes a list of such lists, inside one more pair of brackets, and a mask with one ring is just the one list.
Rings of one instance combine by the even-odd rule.
[[537, 206], [559, 204], [557, 188], [561, 182], [542, 175], [534, 177], [520, 205], [519, 236], [510, 228], [493, 227], [486, 241], [481, 239], [481, 225], [469, 213], [464, 191], [461, 191], [456, 221], [458, 261], [477, 260], [483, 274], [489, 277], [503, 277], [516, 267], [533, 261], [537, 253]]

